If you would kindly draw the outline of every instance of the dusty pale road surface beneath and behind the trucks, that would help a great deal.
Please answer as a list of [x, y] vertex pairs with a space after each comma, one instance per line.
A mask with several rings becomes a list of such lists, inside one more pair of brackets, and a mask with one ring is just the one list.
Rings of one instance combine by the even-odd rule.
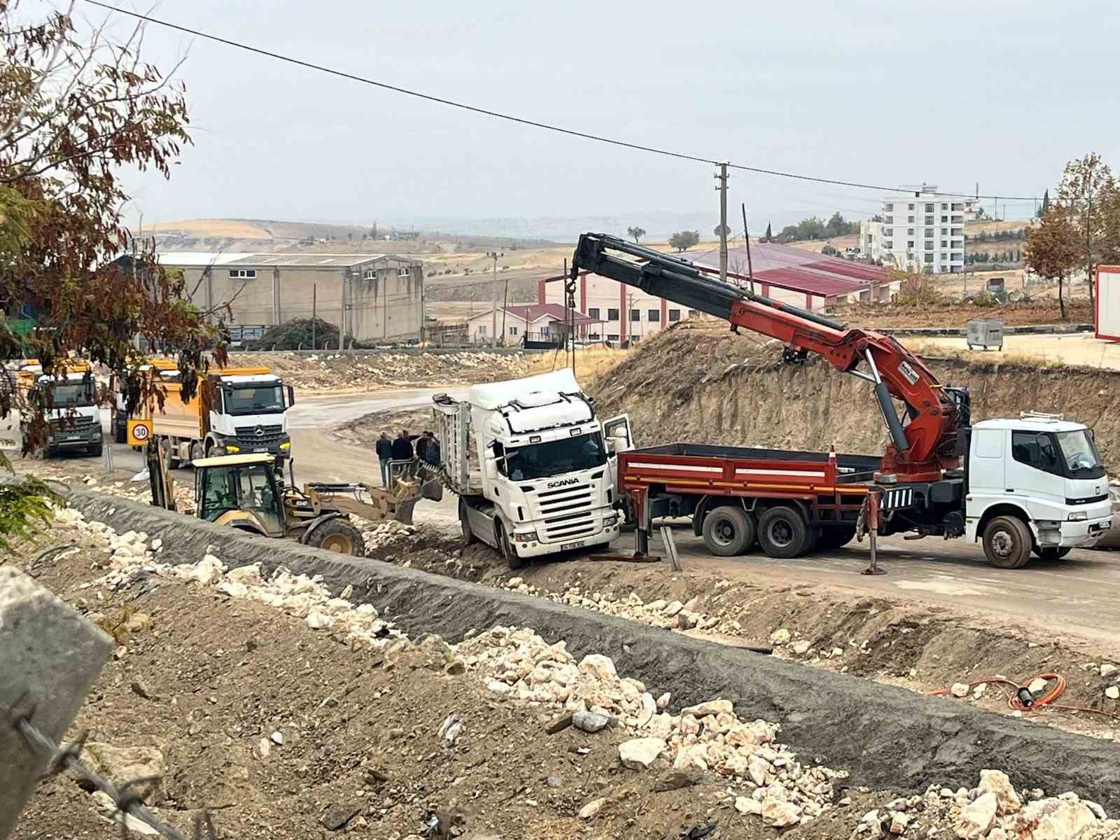
[[[302, 400], [289, 414], [297, 482], [379, 485], [381, 474], [373, 452], [343, 444], [327, 430], [366, 413], [430, 404], [432, 394], [441, 391], [452, 396], [466, 393], [466, 389], [413, 389]], [[116, 445], [113, 449], [118, 468], [142, 469], [139, 452]], [[100, 467], [97, 458], [80, 460], [90, 464], [91, 473]], [[189, 486], [190, 470], [176, 470], [176, 479]], [[457, 529], [455, 496], [445, 494], [438, 504], [421, 502], [416, 517], [419, 522]], [[673, 534], [685, 563], [702, 563], [729, 579], [786, 586], [823, 585], [849, 589], [853, 598], [875, 595], [954, 610], [998, 614], [1005, 620], [1021, 620], [1049, 633], [1103, 640], [1120, 647], [1120, 553], [1074, 550], [1063, 560], [1034, 559], [1025, 569], [1000, 570], [987, 564], [978, 544], [890, 536], [879, 541], [880, 563], [887, 573], [869, 577], [859, 573], [868, 564], [866, 542], [797, 560], [773, 560], [760, 553], [717, 558], [707, 552], [690, 525], [679, 524]], [[633, 550], [633, 539], [624, 534], [614, 550]], [[651, 550], [663, 552], [660, 538], [653, 541]]]

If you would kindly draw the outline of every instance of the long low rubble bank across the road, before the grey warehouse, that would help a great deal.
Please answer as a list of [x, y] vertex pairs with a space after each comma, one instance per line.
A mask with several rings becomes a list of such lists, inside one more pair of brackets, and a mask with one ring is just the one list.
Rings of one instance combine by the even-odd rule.
[[297, 353], [237, 354], [237, 364], [265, 365], [300, 391], [374, 390], [398, 385], [489, 382], [524, 375], [523, 353]]

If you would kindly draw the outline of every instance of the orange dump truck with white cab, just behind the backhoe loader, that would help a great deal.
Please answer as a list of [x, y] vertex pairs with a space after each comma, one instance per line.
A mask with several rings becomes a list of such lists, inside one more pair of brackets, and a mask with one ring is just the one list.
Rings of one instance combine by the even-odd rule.
[[174, 363], [153, 360], [141, 372], [157, 379], [165, 400], [160, 409], [149, 399], [137, 416], [152, 421], [152, 435], [164, 444], [170, 469], [218, 455], [267, 454], [278, 465], [290, 456], [287, 411], [295, 393], [268, 367], [209, 371], [186, 401]]

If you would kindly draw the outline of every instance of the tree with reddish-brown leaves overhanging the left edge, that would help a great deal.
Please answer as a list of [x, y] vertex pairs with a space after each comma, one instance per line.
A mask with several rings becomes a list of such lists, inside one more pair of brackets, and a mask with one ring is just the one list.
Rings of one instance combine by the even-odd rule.
[[[220, 312], [192, 306], [153, 243], [130, 235], [121, 183], [125, 168], [170, 175], [190, 142], [184, 86], [142, 60], [142, 28], [80, 36], [72, 9], [36, 18], [0, 0], [0, 304], [34, 319], [26, 336], [0, 328], [0, 354], [34, 356], [47, 373], [80, 356], [139, 381], [140, 337], [177, 357], [189, 392], [224, 361]], [[43, 408], [4, 374], [0, 417], [20, 411], [26, 452]], [[0, 534], [3, 523], [0, 512]]]

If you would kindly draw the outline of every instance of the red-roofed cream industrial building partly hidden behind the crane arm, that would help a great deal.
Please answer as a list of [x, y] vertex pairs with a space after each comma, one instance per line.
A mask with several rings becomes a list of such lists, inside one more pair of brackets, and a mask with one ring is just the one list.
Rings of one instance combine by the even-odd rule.
[[[718, 274], [718, 248], [674, 255]], [[729, 248], [727, 265], [729, 273], [746, 277], [747, 249]], [[886, 270], [878, 265], [772, 242], [752, 243], [750, 265], [756, 292], [805, 309], [820, 310], [856, 300], [889, 300], [897, 291], [897, 281], [889, 281]], [[541, 280], [538, 300], [562, 309], [563, 283], [558, 278]], [[609, 342], [641, 340], [692, 314], [679, 304], [595, 274], [581, 276], [577, 281], [576, 307], [580, 314], [586, 312], [589, 321], [581, 327], [586, 337]]]

